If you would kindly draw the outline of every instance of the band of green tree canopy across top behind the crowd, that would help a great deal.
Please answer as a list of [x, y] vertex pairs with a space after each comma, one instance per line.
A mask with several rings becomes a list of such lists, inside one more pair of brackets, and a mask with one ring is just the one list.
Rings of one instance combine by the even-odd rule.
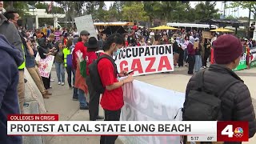
[[[233, 5], [243, 8], [250, 6], [253, 9], [255, 3], [234, 2]], [[94, 22], [198, 22], [220, 16], [218, 9], [215, 9], [216, 2], [200, 2], [192, 8], [189, 1], [115, 1], [110, 7], [106, 7], [103, 1], [58, 1], [51, 11], [48, 11], [49, 4], [46, 2], [4, 2], [5, 7], [13, 6], [22, 10], [23, 14], [28, 10], [27, 4], [46, 9], [48, 14], [66, 14], [66, 21], [69, 22], [85, 14], [91, 14]]]

